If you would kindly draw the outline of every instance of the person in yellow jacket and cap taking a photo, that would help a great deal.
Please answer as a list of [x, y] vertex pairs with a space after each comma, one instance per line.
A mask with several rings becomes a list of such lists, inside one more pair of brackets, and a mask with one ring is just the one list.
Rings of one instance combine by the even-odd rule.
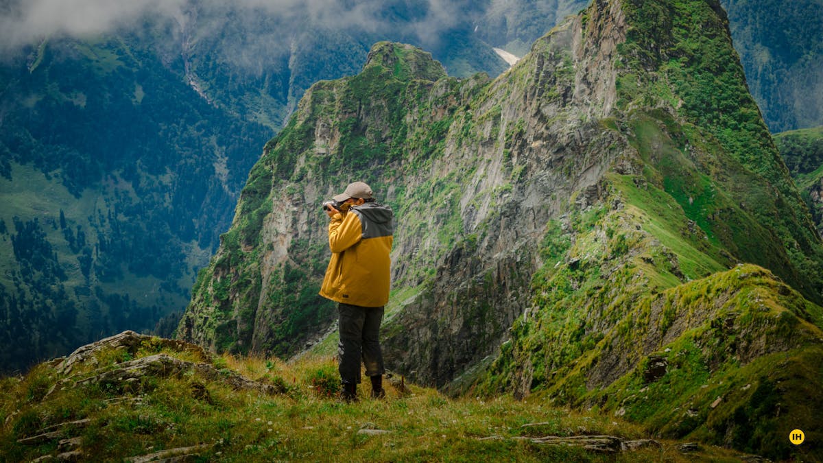
[[383, 397], [383, 353], [379, 330], [388, 302], [394, 221], [392, 210], [374, 202], [372, 190], [354, 182], [334, 198], [339, 210], [325, 204], [331, 221], [328, 246], [332, 258], [320, 296], [339, 302], [340, 379], [343, 399], [356, 400], [360, 358], [371, 378], [371, 394]]

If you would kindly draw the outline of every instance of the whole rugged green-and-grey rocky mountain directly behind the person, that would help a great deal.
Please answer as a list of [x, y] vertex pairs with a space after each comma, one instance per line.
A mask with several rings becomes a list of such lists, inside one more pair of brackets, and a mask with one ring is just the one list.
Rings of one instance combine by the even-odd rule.
[[374, 45], [267, 143], [179, 336], [333, 345], [319, 204], [353, 180], [397, 215], [394, 370], [815, 455], [823, 245], [718, 2], [593, 2], [494, 80]]

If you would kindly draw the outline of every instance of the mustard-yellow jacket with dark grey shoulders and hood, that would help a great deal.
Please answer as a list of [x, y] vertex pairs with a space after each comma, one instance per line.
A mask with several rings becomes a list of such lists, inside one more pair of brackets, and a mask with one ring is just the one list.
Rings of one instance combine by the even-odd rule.
[[379, 307], [388, 302], [394, 241], [392, 210], [377, 203], [334, 214], [328, 223], [328, 262], [320, 296], [352, 306]]

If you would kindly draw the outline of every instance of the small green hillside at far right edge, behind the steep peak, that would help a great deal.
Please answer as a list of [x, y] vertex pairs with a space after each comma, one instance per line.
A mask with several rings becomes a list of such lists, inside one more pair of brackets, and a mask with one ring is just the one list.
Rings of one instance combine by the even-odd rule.
[[774, 143], [823, 236], [823, 127], [775, 133]]

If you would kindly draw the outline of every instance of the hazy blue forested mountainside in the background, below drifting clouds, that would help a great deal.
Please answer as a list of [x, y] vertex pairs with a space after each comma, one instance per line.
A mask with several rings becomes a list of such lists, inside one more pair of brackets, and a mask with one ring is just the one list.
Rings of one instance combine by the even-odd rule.
[[338, 3], [179, 2], [105, 29], [92, 19], [109, 5], [74, 18], [98, 33], [15, 49], [38, 23], [15, 12], [40, 2], [0, 7], [0, 372], [121, 330], [170, 334], [261, 147], [378, 38], [430, 44], [456, 75], [506, 68], [472, 35], [472, 2]]

